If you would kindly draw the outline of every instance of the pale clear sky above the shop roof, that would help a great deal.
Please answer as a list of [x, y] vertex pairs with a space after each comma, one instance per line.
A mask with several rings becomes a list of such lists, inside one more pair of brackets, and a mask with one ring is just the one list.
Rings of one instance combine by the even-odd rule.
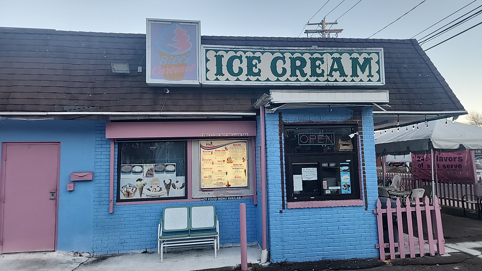
[[[472, 1], [426, 0], [372, 38], [410, 39]], [[326, 2], [327, 0], [0, 0], [0, 27], [146, 33], [146, 18], [162, 18], [200, 20], [201, 35], [297, 37], [308, 20]], [[320, 22], [325, 15], [327, 22], [333, 22], [356, 2], [358, 0], [329, 0], [310, 22]], [[368, 38], [420, 2], [422, 0], [362, 0], [343, 15], [334, 28], [344, 29], [339, 34], [341, 38]], [[336, 7], [338, 4], [340, 5]], [[422, 38], [480, 5], [482, 0], [476, 0], [415, 38]], [[423, 44], [422, 48], [428, 49], [479, 22], [481, 18], [474, 17]], [[301, 36], [306, 37], [306, 34]], [[482, 89], [478, 81], [481, 76], [481, 44], [482, 25], [427, 51], [466, 110], [481, 110], [480, 97], [477, 96]]]

